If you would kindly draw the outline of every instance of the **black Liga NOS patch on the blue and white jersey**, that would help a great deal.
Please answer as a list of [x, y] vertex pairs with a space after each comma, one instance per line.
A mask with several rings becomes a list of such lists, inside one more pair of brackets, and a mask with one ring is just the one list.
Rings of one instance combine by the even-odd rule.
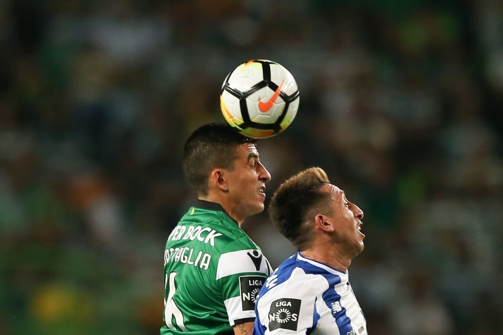
[[274, 300], [269, 310], [269, 330], [278, 328], [297, 330], [299, 322], [300, 299], [282, 298]]

